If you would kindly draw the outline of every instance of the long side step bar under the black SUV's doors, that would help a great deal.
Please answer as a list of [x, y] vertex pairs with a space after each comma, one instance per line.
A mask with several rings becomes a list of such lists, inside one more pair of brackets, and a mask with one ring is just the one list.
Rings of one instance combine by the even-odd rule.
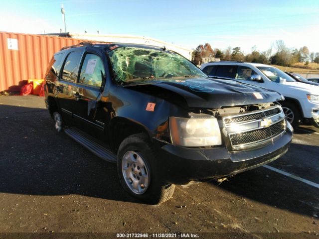
[[78, 143], [82, 144], [82, 146], [86, 147], [96, 156], [112, 163], [116, 163], [116, 155], [111, 152], [111, 150], [99, 144], [94, 138], [92, 138], [87, 133], [76, 129], [76, 128], [67, 128], [64, 132], [73, 138]]

